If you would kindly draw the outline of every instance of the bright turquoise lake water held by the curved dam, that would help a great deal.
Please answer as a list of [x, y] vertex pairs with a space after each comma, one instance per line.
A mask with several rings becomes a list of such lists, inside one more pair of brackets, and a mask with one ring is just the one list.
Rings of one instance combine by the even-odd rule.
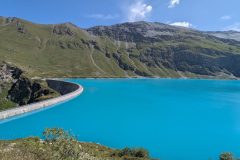
[[81, 141], [144, 147], [161, 160], [240, 157], [240, 82], [171, 79], [71, 79], [79, 97], [0, 121], [0, 139], [71, 130]]

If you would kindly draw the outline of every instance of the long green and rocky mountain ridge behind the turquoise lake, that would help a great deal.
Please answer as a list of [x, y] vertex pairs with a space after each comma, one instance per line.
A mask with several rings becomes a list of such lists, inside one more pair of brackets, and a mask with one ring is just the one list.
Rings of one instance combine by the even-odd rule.
[[30, 77], [240, 77], [240, 42], [162, 23], [81, 29], [0, 18], [0, 59]]

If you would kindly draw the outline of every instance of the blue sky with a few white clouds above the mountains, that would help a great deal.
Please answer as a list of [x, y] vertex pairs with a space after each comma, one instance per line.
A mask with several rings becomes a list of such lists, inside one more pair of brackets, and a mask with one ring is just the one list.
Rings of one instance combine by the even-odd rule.
[[82, 28], [139, 20], [240, 31], [240, 0], [4, 0], [1, 16]]

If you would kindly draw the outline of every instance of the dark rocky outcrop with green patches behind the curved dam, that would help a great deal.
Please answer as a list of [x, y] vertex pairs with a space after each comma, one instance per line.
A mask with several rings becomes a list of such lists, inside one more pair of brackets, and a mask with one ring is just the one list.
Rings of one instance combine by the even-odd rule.
[[42, 80], [31, 80], [23, 71], [7, 63], [0, 64], [0, 111], [58, 96]]

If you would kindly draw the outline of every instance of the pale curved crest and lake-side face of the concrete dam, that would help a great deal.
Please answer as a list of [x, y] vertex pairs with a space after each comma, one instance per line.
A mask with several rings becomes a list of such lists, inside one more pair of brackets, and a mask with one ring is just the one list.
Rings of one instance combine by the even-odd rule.
[[62, 83], [62, 84], [70, 84], [73, 86], [77, 86], [77, 89], [75, 91], [72, 91], [70, 93], [61, 95], [59, 97], [56, 98], [51, 98], [48, 100], [44, 100], [41, 102], [36, 102], [36, 103], [32, 103], [32, 104], [28, 104], [28, 105], [24, 105], [24, 106], [19, 106], [16, 108], [12, 108], [9, 110], [5, 110], [5, 111], [1, 111], [0, 112], [0, 120], [5, 120], [11, 117], [15, 117], [15, 116], [19, 116], [28, 112], [32, 112], [32, 111], [36, 111], [39, 109], [43, 109], [43, 108], [47, 108], [50, 107], [52, 105], [56, 105], [58, 103], [64, 102], [64, 101], [68, 101], [71, 100], [77, 96], [79, 96], [82, 92], [83, 92], [83, 87], [79, 84], [76, 83], [72, 83], [72, 82], [66, 82], [66, 81], [61, 81], [61, 80], [52, 80], [52, 81], [56, 81], [58, 83]]

